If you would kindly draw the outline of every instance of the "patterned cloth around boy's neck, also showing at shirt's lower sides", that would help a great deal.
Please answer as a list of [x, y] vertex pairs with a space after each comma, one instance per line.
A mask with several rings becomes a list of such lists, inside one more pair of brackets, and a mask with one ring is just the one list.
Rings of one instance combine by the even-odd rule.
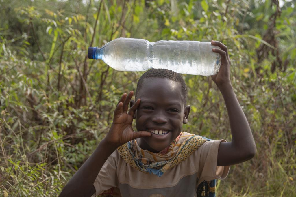
[[[167, 170], [184, 161], [203, 143], [209, 140], [210, 139], [202, 136], [181, 132], [167, 148], [159, 153], [141, 149], [136, 140], [129, 141], [119, 146], [117, 150], [120, 156], [130, 166], [141, 172], [152, 173], [161, 177]], [[215, 179], [200, 183], [197, 187], [197, 196], [214, 197], [215, 186]], [[112, 188], [110, 190], [112, 190]], [[110, 190], [104, 191], [99, 197], [105, 196], [107, 193], [110, 195]]]

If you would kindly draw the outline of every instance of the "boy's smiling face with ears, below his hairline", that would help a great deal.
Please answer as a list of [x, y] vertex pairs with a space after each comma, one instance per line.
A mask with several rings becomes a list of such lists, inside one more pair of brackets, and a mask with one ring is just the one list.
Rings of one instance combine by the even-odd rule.
[[[182, 124], [187, 123], [190, 106], [185, 106], [182, 86], [178, 82], [150, 77], [143, 83], [137, 93], [141, 102], [136, 111], [136, 128], [137, 131], [150, 131], [152, 135], [137, 142], [144, 150], [160, 152], [181, 133]], [[131, 105], [133, 103], [131, 101]]]

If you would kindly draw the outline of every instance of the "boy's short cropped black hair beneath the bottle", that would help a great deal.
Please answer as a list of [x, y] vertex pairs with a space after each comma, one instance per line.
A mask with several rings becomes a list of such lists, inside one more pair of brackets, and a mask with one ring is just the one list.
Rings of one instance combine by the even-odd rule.
[[168, 70], [168, 69], [149, 69], [146, 71], [139, 79], [136, 89], [136, 98], [138, 98], [138, 92], [143, 86], [144, 79], [150, 78], [150, 77], [156, 77], [156, 78], [165, 78], [170, 79], [174, 82], [177, 82], [181, 84], [181, 91], [182, 91], [182, 97], [184, 100], [184, 105], [186, 105], [187, 100], [187, 87], [184, 79], [179, 73], [176, 73], [174, 71]]

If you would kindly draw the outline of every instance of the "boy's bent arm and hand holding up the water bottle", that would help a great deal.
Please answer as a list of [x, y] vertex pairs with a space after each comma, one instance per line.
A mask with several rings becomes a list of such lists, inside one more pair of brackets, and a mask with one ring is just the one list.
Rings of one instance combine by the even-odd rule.
[[230, 82], [230, 58], [227, 47], [219, 41], [212, 41], [211, 43], [221, 48], [213, 49], [213, 52], [221, 55], [221, 67], [219, 72], [211, 77], [223, 95], [232, 135], [231, 142], [221, 142], [217, 165], [234, 165], [254, 157], [256, 145], [247, 118], [239, 105]]

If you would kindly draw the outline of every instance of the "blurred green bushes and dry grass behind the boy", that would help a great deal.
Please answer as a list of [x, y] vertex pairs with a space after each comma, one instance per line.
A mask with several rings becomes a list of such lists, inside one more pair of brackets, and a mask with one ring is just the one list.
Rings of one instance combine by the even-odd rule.
[[[231, 167], [218, 196], [296, 196], [296, 1], [0, 0], [0, 196], [57, 196], [143, 72], [89, 60], [119, 37], [220, 40], [250, 123], [255, 158]], [[231, 141], [210, 77], [183, 75], [184, 131]]]

